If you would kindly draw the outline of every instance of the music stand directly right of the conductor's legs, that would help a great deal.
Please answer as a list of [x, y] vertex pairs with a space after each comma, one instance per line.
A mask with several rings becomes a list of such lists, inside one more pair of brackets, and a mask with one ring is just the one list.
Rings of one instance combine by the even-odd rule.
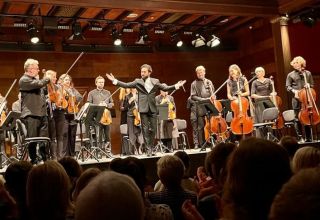
[[156, 144], [154, 150], [160, 151], [164, 153], [164, 150], [169, 151], [169, 149], [163, 144], [161, 141], [161, 121], [167, 121], [169, 114], [169, 105], [168, 104], [161, 104], [157, 106], [157, 136], [158, 136], [158, 143]]

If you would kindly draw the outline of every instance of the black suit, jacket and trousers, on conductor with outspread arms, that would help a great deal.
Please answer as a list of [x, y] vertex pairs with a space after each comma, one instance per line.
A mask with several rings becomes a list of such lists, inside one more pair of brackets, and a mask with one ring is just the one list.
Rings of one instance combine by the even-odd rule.
[[145, 81], [143, 79], [135, 79], [132, 82], [117, 81], [117, 86], [123, 88], [136, 88], [138, 91], [138, 109], [141, 117], [142, 134], [144, 142], [149, 150], [153, 152], [154, 139], [157, 129], [157, 105], [156, 94], [159, 90], [169, 91], [175, 89], [175, 86], [168, 86], [160, 83], [158, 79], [150, 78], [153, 85], [150, 92], [145, 88]]

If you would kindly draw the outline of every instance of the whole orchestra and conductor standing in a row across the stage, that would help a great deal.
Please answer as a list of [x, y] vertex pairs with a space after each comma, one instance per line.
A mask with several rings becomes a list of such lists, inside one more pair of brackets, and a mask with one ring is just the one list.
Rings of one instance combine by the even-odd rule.
[[[299, 141], [314, 141], [314, 126], [320, 122], [315, 103], [314, 81], [310, 71], [306, 70], [303, 57], [295, 57], [291, 61], [293, 71], [286, 79], [287, 91], [292, 94], [292, 110], [294, 120], [286, 121], [281, 112], [281, 98], [276, 92], [273, 78], [265, 77], [263, 67], [257, 67], [252, 79], [242, 74], [238, 65], [229, 67], [229, 77], [218, 89], [214, 79], [206, 78], [204, 66], [195, 69], [196, 79], [191, 83], [190, 96], [185, 101], [190, 110], [187, 119], [192, 130], [193, 146], [205, 150], [219, 142], [238, 142], [247, 136], [277, 140], [286, 125], [292, 125]], [[27, 146], [29, 158], [33, 164], [39, 160], [60, 159], [64, 156], [76, 157], [76, 139], [79, 124], [82, 124], [85, 136], [91, 145], [96, 145], [112, 157], [110, 128], [112, 126], [112, 110], [114, 110], [114, 94], [104, 89], [105, 80], [119, 87], [121, 125], [126, 125], [127, 146], [122, 147], [122, 154], [153, 156], [156, 152], [172, 152], [179, 149], [179, 123], [176, 115], [174, 92], [184, 89], [184, 81], [167, 85], [152, 78], [152, 67], [144, 64], [140, 68], [141, 78], [132, 82], [122, 82], [112, 74], [95, 78], [96, 88], [85, 94], [75, 88], [72, 77], [62, 74], [57, 78], [53, 70], [41, 70], [39, 62], [27, 59], [24, 74], [18, 81], [18, 100], [12, 108], [6, 105], [5, 96], [0, 95], [1, 112], [1, 151], [13, 151], [7, 148], [6, 140], [17, 143], [17, 131], [2, 128], [9, 119], [9, 112], [18, 112], [25, 126], [26, 137], [49, 137], [50, 147], [43, 143], [32, 142]], [[227, 88], [227, 99], [218, 99], [216, 93]], [[12, 85], [13, 86], [13, 85]], [[10, 89], [11, 90], [11, 89]], [[118, 95], [118, 94], [117, 94]], [[103, 109], [95, 123], [86, 120], [86, 106], [102, 106]], [[165, 117], [160, 116], [160, 109], [165, 109]], [[84, 113], [79, 118], [79, 113]], [[271, 114], [271, 115], [270, 115]], [[272, 115], [273, 114], [273, 115]], [[272, 119], [270, 119], [272, 117]], [[80, 122], [80, 123], [79, 123]], [[81, 126], [81, 125], [80, 125]], [[5, 126], [3, 126], [5, 127]], [[270, 136], [272, 134], [272, 136]], [[123, 139], [122, 139], [123, 140]], [[123, 145], [123, 143], [122, 143]], [[17, 149], [15, 154], [19, 154]], [[1, 156], [0, 156], [1, 157]]]

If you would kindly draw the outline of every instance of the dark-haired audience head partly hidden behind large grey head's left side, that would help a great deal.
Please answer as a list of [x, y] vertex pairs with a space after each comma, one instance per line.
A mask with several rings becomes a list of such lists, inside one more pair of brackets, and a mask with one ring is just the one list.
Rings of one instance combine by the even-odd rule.
[[76, 186], [74, 188], [74, 191], [72, 193], [72, 198], [73, 201], [76, 201], [79, 193], [81, 192], [81, 190], [89, 184], [89, 182], [96, 176], [98, 176], [98, 174], [101, 173], [101, 170], [98, 168], [88, 168], [86, 169], [81, 176], [78, 178], [77, 182], [76, 182]]

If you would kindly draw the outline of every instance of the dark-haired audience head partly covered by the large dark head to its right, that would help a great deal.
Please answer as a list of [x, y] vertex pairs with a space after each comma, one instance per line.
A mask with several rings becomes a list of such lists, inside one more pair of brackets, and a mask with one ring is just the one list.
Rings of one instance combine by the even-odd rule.
[[235, 149], [236, 145], [234, 143], [219, 143], [206, 156], [206, 172], [221, 186], [225, 182], [228, 158]]

